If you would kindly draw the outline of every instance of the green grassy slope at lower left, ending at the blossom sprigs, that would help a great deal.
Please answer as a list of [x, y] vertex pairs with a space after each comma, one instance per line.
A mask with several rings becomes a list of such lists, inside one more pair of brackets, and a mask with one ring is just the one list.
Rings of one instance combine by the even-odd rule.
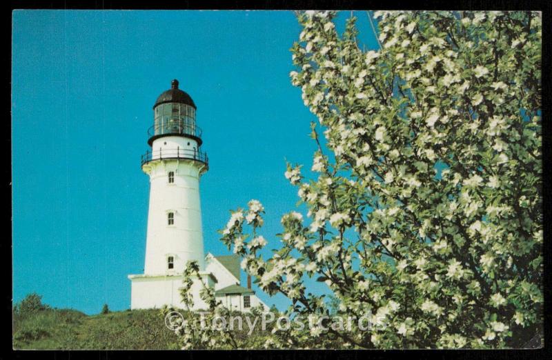
[[14, 315], [14, 349], [178, 349], [159, 310], [127, 310], [88, 316], [77, 310], [45, 309]]

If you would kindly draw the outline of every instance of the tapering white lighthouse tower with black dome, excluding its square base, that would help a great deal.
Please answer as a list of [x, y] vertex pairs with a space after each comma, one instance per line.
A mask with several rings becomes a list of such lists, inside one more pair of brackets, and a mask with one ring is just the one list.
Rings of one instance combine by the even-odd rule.
[[144, 274], [174, 272], [190, 260], [204, 270], [199, 178], [208, 170], [208, 158], [201, 151], [195, 103], [178, 86], [172, 80], [157, 97], [148, 130], [151, 150], [141, 159], [150, 177]]

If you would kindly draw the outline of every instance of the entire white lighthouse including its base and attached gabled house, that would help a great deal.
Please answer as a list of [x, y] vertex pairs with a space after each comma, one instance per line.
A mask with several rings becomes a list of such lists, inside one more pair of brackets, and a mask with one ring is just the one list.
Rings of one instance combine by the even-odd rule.
[[250, 277], [240, 283], [239, 257], [205, 254], [201, 229], [199, 178], [209, 168], [201, 150], [201, 130], [196, 125], [197, 107], [172, 80], [153, 106], [154, 123], [148, 131], [151, 150], [142, 155], [141, 168], [150, 177], [148, 231], [144, 274], [128, 275], [132, 309], [184, 308], [179, 288], [186, 263], [199, 263], [194, 280], [193, 310], [208, 306], [199, 297], [201, 282], [215, 288], [217, 300], [232, 310], [268, 307], [255, 295]]

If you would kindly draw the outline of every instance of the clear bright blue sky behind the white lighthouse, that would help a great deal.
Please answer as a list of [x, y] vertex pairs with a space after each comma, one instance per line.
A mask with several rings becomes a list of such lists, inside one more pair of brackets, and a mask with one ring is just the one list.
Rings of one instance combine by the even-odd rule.
[[[366, 12], [356, 15], [360, 43], [375, 49]], [[300, 31], [288, 11], [13, 12], [14, 301], [38, 292], [88, 314], [129, 308], [127, 275], [143, 271], [146, 246], [139, 160], [152, 105], [174, 78], [197, 105], [210, 161], [206, 251], [229, 253], [217, 230], [250, 199], [264, 204], [276, 248], [279, 219], [298, 200], [285, 161], [310, 168], [315, 150], [315, 117], [288, 77]]]

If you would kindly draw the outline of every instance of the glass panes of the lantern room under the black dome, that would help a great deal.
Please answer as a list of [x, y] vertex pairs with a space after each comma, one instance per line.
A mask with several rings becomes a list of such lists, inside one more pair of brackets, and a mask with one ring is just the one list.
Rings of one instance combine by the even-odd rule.
[[185, 103], [161, 103], [154, 110], [155, 135], [195, 134], [195, 108]]

